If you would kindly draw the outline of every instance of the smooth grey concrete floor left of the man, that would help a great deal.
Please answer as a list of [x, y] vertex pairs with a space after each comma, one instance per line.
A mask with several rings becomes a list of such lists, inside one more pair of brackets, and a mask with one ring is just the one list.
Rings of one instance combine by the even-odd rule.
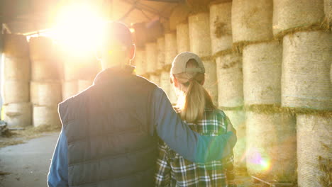
[[0, 148], [0, 186], [47, 186], [48, 168], [60, 132], [45, 133], [43, 137], [25, 144]]

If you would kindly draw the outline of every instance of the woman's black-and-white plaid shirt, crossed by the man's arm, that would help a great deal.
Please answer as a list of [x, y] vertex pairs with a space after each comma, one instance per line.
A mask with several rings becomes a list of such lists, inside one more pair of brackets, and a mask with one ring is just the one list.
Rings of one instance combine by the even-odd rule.
[[[223, 111], [206, 108], [203, 120], [187, 124], [200, 135], [216, 136], [226, 133], [229, 123]], [[226, 183], [236, 186], [234, 177], [233, 154], [223, 160], [199, 164], [184, 159], [162, 140], [159, 142], [156, 186], [226, 186]]]

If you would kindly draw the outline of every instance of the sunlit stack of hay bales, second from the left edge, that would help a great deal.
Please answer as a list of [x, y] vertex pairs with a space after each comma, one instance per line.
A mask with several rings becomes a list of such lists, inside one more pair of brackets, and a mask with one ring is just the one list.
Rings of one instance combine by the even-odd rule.
[[30, 38], [31, 102], [33, 126], [60, 126], [57, 104], [62, 100], [61, 81], [50, 38]]

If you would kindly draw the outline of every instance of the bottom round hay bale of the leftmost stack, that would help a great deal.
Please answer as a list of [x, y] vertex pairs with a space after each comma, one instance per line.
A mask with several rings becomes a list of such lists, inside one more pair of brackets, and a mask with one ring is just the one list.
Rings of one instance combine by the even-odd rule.
[[10, 103], [4, 107], [4, 120], [9, 126], [31, 125], [31, 103]]

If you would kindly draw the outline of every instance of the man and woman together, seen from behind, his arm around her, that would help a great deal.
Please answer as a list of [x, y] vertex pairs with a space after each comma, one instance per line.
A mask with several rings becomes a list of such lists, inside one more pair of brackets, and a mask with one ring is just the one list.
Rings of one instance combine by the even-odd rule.
[[184, 52], [172, 63], [175, 112], [162, 89], [133, 74], [125, 25], [107, 23], [101, 46], [104, 71], [59, 104], [48, 186], [232, 186], [236, 130], [202, 87], [200, 58]]

